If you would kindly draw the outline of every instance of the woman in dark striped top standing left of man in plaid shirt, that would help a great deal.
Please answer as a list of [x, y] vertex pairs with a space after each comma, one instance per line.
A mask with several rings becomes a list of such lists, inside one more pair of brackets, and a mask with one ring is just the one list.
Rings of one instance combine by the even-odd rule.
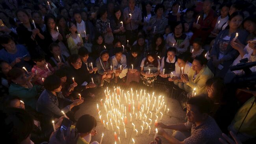
[[115, 16], [110, 21], [110, 27], [113, 29], [114, 39], [120, 40], [122, 44], [126, 43], [124, 19], [121, 9], [119, 7], [114, 8]]

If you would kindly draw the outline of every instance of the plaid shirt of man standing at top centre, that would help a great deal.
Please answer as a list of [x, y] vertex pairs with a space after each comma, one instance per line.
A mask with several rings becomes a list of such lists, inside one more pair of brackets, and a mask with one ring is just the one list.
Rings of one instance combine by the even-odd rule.
[[[125, 9], [124, 9], [124, 19], [125, 20], [127, 20], [128, 18], [130, 18], [130, 15], [129, 14], [132, 14], [132, 19], [133, 20], [142, 20], [142, 16], [141, 16], [141, 9], [139, 8], [139, 7], [134, 7], [134, 11], [132, 11], [131, 9], [130, 9], [130, 7], [126, 7]], [[132, 26], [132, 28], [131, 28], [131, 26]], [[139, 24], [136, 24], [135, 22], [130, 22], [130, 23], [128, 23], [128, 24], [124, 24], [124, 27], [125, 27], [125, 29], [126, 30], [135, 30], [135, 29], [138, 29], [138, 27], [139, 27]]]

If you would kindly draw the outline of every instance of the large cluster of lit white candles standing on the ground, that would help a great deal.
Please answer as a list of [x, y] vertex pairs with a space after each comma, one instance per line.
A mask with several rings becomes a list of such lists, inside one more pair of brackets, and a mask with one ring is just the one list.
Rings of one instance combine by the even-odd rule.
[[[119, 141], [119, 143], [121, 143], [121, 140], [120, 137], [117, 137], [117, 133], [121, 135], [120, 129], [123, 127], [124, 132], [122, 133], [126, 139], [127, 132], [125, 126], [128, 123], [132, 124], [133, 131], [136, 132], [135, 136], [138, 136], [139, 130], [143, 134], [144, 129], [148, 130], [148, 135], [150, 135], [152, 125], [156, 128], [159, 118], [160, 120], [163, 118], [163, 113], [169, 113], [169, 108], [165, 105], [164, 97], [161, 95], [155, 97], [154, 92], [150, 95], [149, 93], [146, 94], [145, 90], [143, 92], [141, 89], [138, 92], [137, 90], [133, 91], [131, 88], [125, 93], [120, 87], [114, 87], [114, 91], [111, 94], [107, 87], [104, 93], [106, 97], [105, 101], [103, 102], [103, 99], [100, 100], [102, 109], [99, 108], [98, 104], [96, 105], [98, 116], [104, 128], [114, 132], [115, 141]], [[102, 110], [106, 112], [104, 118], [101, 115]], [[138, 124], [137, 128], [135, 124]], [[156, 128], [155, 137], [157, 133]], [[104, 134], [102, 133], [100, 144], [103, 136]], [[134, 139], [133, 143], [135, 144]]]

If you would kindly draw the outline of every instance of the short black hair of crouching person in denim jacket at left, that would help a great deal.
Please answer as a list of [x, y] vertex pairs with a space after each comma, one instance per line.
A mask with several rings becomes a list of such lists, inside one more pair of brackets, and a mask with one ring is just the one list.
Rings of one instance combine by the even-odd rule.
[[59, 86], [61, 86], [61, 80], [56, 75], [50, 75], [45, 78], [43, 86], [48, 91], [53, 91], [54, 89], [57, 89]]

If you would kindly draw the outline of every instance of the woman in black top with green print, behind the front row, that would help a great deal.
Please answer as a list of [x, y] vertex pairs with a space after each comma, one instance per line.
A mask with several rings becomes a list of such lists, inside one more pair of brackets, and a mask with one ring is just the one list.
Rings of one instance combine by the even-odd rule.
[[184, 33], [182, 22], [175, 22], [172, 31], [173, 33], [170, 33], [166, 38], [166, 44], [169, 47], [175, 47], [177, 55], [180, 55], [187, 51], [187, 47], [189, 47], [189, 37]]

